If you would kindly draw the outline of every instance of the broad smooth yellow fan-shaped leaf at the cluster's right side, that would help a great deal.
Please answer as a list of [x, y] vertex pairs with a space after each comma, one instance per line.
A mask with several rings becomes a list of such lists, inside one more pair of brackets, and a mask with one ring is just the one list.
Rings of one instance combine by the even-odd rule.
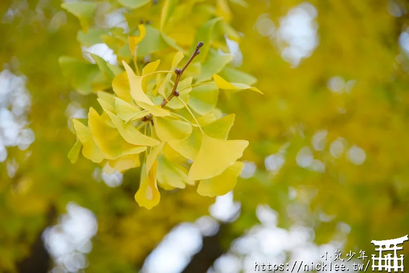
[[246, 140], [219, 140], [203, 134], [199, 153], [189, 171], [189, 179], [208, 179], [221, 174], [243, 155], [247, 146]]

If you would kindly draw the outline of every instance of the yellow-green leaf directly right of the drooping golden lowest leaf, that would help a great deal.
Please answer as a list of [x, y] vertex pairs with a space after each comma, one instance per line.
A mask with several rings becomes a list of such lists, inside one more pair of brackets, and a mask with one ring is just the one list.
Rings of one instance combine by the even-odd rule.
[[181, 165], [176, 165], [167, 160], [165, 156], [157, 158], [156, 178], [161, 185], [169, 185], [172, 188], [185, 189], [188, 182], [188, 169]]

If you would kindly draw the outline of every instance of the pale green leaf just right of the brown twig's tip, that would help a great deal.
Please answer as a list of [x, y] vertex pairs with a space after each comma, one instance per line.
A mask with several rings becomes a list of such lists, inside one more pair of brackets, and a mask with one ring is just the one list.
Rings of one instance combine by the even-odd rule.
[[213, 74], [219, 73], [232, 60], [233, 55], [220, 54], [215, 50], [210, 50], [206, 60], [201, 64], [201, 73], [196, 82], [210, 80]]

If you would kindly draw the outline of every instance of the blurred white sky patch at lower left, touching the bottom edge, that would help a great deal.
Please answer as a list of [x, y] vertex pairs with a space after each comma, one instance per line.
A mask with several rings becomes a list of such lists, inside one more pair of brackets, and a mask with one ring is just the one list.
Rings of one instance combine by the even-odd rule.
[[78, 272], [87, 266], [86, 254], [92, 249], [91, 239], [98, 230], [95, 214], [75, 202], [66, 206], [67, 213], [56, 225], [47, 227], [42, 237], [53, 257], [55, 272]]

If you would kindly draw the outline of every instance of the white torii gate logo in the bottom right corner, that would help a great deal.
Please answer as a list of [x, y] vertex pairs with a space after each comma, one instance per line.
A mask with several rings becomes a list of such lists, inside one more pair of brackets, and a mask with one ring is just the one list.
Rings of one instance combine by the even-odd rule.
[[[375, 257], [376, 255], [374, 254], [372, 255], [372, 271], [377, 268], [378, 271], [383, 271], [383, 269], [385, 269], [385, 271], [391, 272], [391, 270], [393, 269], [394, 272], [398, 272], [400, 269], [400, 271], [403, 272], [403, 255], [400, 255], [400, 257], [398, 258], [396, 252], [403, 249], [403, 246], [398, 245], [403, 244], [403, 242], [407, 240], [407, 235], [391, 240], [372, 240], [371, 243], [378, 246], [378, 248], [375, 248], [375, 251], [379, 252], [378, 257]], [[391, 253], [385, 254], [382, 257], [382, 252], [392, 251], [393, 257]], [[378, 261], [378, 264], [376, 264], [376, 261]]]

